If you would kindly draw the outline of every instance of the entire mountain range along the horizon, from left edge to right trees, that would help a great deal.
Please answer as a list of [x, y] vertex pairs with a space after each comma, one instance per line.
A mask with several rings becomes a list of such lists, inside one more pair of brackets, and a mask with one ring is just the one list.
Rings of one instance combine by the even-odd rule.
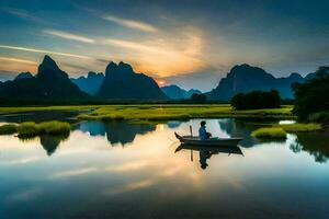
[[[283, 99], [292, 99], [291, 85], [313, 78], [314, 73], [303, 78], [291, 73], [286, 78], [275, 78], [261, 68], [249, 65], [235, 66], [219, 84], [205, 93], [208, 100], [229, 101], [237, 93], [253, 90], [277, 90]], [[69, 79], [57, 64], [45, 56], [38, 66], [37, 73], [22, 72], [11, 81], [0, 81], [0, 102], [79, 102], [92, 100], [136, 100], [163, 101], [189, 99], [198, 90], [183, 90], [178, 85], [159, 88], [156, 81], [144, 74], [136, 73], [125, 62], [110, 62], [105, 74], [90, 71], [87, 77]]]

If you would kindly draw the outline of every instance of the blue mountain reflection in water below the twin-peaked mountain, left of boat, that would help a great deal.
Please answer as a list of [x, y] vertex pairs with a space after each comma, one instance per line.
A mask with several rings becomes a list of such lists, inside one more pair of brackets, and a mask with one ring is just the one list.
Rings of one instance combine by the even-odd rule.
[[133, 142], [136, 135], [144, 135], [156, 130], [156, 125], [132, 124], [128, 122], [84, 122], [78, 128], [90, 136], [106, 136], [111, 145], [126, 145]]

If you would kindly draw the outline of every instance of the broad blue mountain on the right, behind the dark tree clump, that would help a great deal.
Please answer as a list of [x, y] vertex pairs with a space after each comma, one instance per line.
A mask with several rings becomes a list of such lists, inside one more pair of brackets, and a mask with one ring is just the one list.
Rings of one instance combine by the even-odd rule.
[[209, 100], [228, 101], [237, 93], [246, 93], [253, 90], [277, 90], [281, 97], [292, 99], [292, 83], [303, 82], [305, 79], [298, 73], [292, 73], [287, 78], [274, 78], [261, 68], [247, 64], [235, 66], [219, 81], [217, 88], [206, 93]]

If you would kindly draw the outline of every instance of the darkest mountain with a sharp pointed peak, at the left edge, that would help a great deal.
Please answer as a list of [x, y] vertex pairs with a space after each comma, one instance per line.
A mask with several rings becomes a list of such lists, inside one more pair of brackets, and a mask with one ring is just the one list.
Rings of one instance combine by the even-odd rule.
[[37, 73], [21, 73], [13, 81], [0, 84], [1, 100], [70, 102], [88, 99], [89, 95], [70, 81], [68, 74], [57, 64], [45, 56]]

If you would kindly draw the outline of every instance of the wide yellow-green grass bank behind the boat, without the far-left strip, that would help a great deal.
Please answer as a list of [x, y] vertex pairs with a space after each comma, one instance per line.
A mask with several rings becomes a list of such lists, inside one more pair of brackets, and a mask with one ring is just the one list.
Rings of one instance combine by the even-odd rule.
[[294, 118], [291, 106], [281, 108], [235, 111], [227, 104], [167, 104], [167, 105], [111, 105], [100, 106], [77, 116], [80, 120], [185, 120], [189, 118], [254, 117]]

